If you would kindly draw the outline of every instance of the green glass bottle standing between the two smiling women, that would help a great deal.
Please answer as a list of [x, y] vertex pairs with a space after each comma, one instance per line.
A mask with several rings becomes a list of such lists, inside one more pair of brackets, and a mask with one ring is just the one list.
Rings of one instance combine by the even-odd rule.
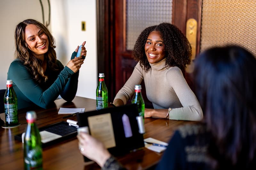
[[99, 73], [99, 83], [96, 90], [96, 110], [108, 107], [108, 89], [104, 77], [104, 73]]

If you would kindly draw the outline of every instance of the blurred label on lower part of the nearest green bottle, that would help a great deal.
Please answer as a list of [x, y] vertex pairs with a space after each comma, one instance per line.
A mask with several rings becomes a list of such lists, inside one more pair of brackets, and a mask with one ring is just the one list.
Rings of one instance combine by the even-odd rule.
[[34, 149], [28, 151], [28, 154], [24, 158], [26, 169], [42, 169], [42, 152], [40, 146], [36, 146]]

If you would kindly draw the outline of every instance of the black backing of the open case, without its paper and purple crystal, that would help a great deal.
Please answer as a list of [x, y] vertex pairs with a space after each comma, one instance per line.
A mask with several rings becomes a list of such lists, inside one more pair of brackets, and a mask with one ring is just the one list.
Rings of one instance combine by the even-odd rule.
[[[91, 128], [88, 122], [89, 117], [93, 117], [96, 115], [108, 114], [111, 115], [114, 138], [115, 138], [115, 147], [108, 148], [108, 151], [114, 155], [119, 156], [123, 155], [132, 150], [136, 150], [138, 148], [144, 147], [144, 138], [143, 134], [139, 132], [139, 125], [136, 117], [139, 116], [138, 108], [136, 104], [128, 104], [120, 107], [106, 108], [102, 110], [94, 110], [84, 113], [77, 114], [77, 120], [79, 127], [88, 126], [89, 133], [91, 134]], [[122, 121], [123, 115], [129, 117], [129, 122], [131, 125], [132, 136], [125, 137], [125, 130]], [[104, 131], [102, 132], [104, 133]], [[93, 136], [93, 135], [92, 135]], [[85, 161], [88, 161], [86, 157], [84, 157]]]

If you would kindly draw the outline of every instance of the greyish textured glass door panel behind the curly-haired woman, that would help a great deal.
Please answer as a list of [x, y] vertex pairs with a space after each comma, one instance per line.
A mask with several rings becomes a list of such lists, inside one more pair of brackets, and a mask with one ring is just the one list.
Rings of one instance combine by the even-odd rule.
[[126, 49], [148, 26], [172, 23], [172, 0], [126, 0]]

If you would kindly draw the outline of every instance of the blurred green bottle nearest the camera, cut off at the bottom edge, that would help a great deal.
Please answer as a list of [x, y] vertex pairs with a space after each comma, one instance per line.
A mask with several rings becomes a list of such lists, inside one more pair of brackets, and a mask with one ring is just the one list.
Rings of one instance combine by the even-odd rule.
[[43, 150], [41, 136], [36, 126], [36, 112], [26, 114], [27, 129], [24, 138], [24, 169], [43, 169]]

